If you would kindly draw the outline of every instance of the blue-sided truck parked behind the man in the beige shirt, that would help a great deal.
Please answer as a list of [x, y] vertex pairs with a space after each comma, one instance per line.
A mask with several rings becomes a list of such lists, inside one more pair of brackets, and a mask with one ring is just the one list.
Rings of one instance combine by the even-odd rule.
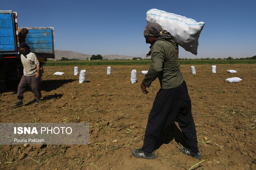
[[18, 14], [0, 11], [0, 92], [17, 84], [23, 74], [18, 29], [28, 29], [26, 43], [35, 53], [43, 72], [47, 59], [55, 58], [53, 27], [18, 27]]

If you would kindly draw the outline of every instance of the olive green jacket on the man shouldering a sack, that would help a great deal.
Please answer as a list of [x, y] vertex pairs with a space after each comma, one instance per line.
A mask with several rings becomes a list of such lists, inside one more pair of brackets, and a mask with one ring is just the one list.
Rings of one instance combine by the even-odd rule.
[[175, 88], [180, 86], [184, 77], [180, 72], [178, 45], [172, 40], [160, 39], [151, 49], [152, 64], [145, 75], [144, 83], [147, 87], [158, 77], [161, 88]]

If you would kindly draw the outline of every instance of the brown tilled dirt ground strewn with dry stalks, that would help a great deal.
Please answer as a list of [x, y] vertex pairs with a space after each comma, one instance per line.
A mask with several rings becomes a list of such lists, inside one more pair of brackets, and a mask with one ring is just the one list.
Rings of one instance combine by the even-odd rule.
[[[158, 92], [155, 80], [149, 94], [140, 83], [148, 65], [79, 66], [86, 82], [79, 84], [74, 66], [46, 66], [42, 101], [34, 105], [32, 92], [24, 106], [13, 108], [16, 88], [0, 94], [0, 123], [90, 123], [90, 145], [0, 145], [0, 169], [256, 169], [256, 64], [181, 65], [192, 100], [201, 160], [182, 154], [184, 139], [177, 123], [161, 134], [156, 157], [138, 159], [131, 150], [143, 145], [148, 114]], [[130, 82], [137, 70], [138, 82]], [[237, 73], [227, 73], [226, 70]], [[64, 72], [54, 76], [54, 72]], [[224, 82], [239, 77], [239, 83]]]

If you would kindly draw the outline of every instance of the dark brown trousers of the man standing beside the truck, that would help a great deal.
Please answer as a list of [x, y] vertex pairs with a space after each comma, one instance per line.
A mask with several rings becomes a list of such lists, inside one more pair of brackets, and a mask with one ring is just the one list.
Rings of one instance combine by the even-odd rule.
[[26, 90], [30, 88], [34, 93], [35, 98], [40, 99], [42, 97], [40, 90], [40, 78], [36, 78], [36, 74], [32, 76], [22, 76], [18, 86], [17, 98], [23, 99], [23, 95]]

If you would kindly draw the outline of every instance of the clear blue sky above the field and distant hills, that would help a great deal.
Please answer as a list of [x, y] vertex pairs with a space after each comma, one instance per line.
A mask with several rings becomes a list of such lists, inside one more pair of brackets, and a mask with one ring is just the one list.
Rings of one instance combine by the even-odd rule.
[[206, 22], [198, 55], [179, 47], [180, 58], [256, 55], [255, 0], [1, 0], [18, 13], [18, 27], [54, 27], [56, 50], [90, 55], [148, 53], [143, 30], [152, 8]]

